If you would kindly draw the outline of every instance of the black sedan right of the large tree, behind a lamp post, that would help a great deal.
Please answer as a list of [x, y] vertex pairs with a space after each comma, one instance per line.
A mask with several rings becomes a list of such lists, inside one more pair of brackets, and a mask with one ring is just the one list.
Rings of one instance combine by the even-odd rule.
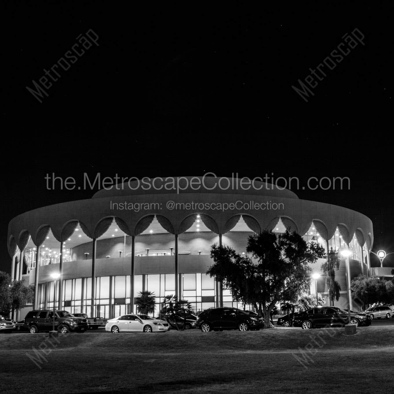
[[[316, 307], [300, 312], [295, 316], [294, 321], [304, 330], [317, 327], [344, 327], [348, 324], [348, 312], [337, 307]], [[372, 318], [367, 314], [351, 313], [350, 323], [357, 326], [371, 325]]]

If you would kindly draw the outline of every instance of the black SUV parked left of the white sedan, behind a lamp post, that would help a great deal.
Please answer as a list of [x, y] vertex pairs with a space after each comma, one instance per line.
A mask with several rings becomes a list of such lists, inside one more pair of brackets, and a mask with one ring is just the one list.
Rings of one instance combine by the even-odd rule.
[[[30, 333], [39, 331], [51, 331], [53, 325], [53, 310], [41, 309], [28, 312], [24, 318], [24, 325]], [[55, 330], [61, 333], [70, 331], [84, 333], [88, 329], [85, 318], [77, 318], [66, 310], [55, 310]]]

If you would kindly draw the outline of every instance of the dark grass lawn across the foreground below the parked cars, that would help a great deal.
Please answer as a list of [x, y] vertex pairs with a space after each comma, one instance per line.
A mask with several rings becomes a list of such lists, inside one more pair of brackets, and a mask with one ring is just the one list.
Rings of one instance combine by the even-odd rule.
[[[87, 333], [52, 340], [55, 348], [48, 334], [2, 334], [0, 392], [394, 392], [394, 327], [343, 333]], [[32, 349], [40, 345], [52, 349], [39, 351], [47, 362]]]

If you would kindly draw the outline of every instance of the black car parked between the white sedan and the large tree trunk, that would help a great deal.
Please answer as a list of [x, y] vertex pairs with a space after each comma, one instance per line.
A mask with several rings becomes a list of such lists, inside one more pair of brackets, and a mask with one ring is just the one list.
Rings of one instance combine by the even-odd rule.
[[264, 327], [264, 321], [258, 316], [236, 308], [210, 308], [203, 310], [197, 318], [196, 326], [208, 333], [209, 331], [259, 330]]

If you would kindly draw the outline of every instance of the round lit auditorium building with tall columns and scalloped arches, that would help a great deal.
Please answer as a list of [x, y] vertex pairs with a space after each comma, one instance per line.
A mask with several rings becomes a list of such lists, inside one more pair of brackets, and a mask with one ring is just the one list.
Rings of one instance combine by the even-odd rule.
[[[221, 243], [246, 253], [248, 236], [264, 229], [295, 230], [307, 241], [316, 237], [326, 250], [350, 250], [351, 277], [378, 274], [370, 267], [372, 222], [359, 212], [300, 200], [264, 182], [245, 190], [236, 178], [183, 180], [187, 187], [177, 190], [156, 187], [155, 180], [128, 182], [100, 190], [92, 199], [13, 218], [7, 239], [11, 276], [34, 285], [29, 309], [53, 308], [55, 302], [71, 313], [112, 318], [135, 313], [135, 298], [144, 290], [154, 292], [155, 314], [169, 294], [187, 299], [195, 311], [242, 307], [230, 290], [206, 275], [210, 247]], [[314, 272], [320, 273], [322, 261], [312, 264]], [[345, 260], [340, 262], [341, 298], [335, 305], [348, 308]], [[317, 281], [317, 290], [329, 305], [325, 278]]]

